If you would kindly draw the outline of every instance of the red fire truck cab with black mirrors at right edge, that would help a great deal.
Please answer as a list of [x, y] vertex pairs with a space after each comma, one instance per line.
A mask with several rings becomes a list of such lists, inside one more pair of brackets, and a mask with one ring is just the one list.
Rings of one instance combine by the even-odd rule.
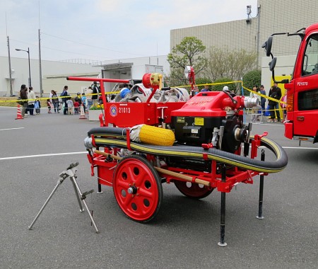
[[[274, 35], [298, 35], [301, 39], [292, 78], [275, 80], [276, 57], [271, 53]], [[285, 137], [299, 141], [318, 142], [318, 23], [296, 33], [274, 33], [264, 43], [266, 56], [271, 56], [269, 69], [274, 82], [285, 84], [287, 90], [287, 122]]]

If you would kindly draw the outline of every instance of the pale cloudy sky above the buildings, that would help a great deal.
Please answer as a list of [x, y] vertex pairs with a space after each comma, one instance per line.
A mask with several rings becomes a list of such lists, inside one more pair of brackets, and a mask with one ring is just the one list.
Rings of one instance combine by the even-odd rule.
[[0, 0], [0, 55], [38, 59], [124, 59], [167, 55], [170, 30], [247, 18], [257, 0]]

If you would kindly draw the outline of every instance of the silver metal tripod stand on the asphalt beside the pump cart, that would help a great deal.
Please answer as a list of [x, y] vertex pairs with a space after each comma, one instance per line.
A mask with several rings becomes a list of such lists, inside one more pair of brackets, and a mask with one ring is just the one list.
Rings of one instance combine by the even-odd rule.
[[59, 185], [61, 185], [61, 183], [63, 183], [63, 181], [66, 178], [70, 178], [71, 183], [73, 185], [73, 188], [75, 190], [75, 194], [76, 194], [76, 198], [78, 200], [78, 205], [80, 206], [80, 211], [83, 212], [83, 206], [81, 204], [81, 201], [83, 201], [83, 204], [86, 207], [86, 211], [88, 212], [88, 215], [90, 216], [90, 220], [92, 221], [95, 230], [96, 230], [96, 234], [99, 233], [98, 231], [98, 227], [96, 226], [93, 216], [92, 214], [90, 214], [90, 210], [88, 210], [88, 206], [86, 205], [85, 199], [86, 199], [86, 195], [93, 193], [94, 190], [90, 190], [86, 193], [81, 193], [81, 189], [78, 187], [78, 183], [76, 182], [76, 176], [75, 173], [77, 171], [76, 166], [78, 166], [78, 162], [76, 162], [75, 164], [70, 164], [70, 166], [68, 168], [66, 168], [66, 171], [63, 171], [59, 174], [59, 181], [57, 181], [57, 185], [55, 186], [55, 188], [53, 189], [52, 193], [49, 195], [49, 198], [47, 198], [47, 200], [45, 201], [45, 204], [42, 206], [42, 208], [40, 209], [40, 212], [37, 213], [37, 216], [35, 217], [35, 219], [33, 220], [33, 222], [31, 223], [31, 225], [29, 226], [29, 229], [32, 229], [33, 224], [35, 224], [35, 222], [37, 221], [37, 218], [40, 217], [40, 214], [42, 213], [42, 211], [45, 209], [47, 203], [49, 202], [49, 200], [52, 198], [52, 196], [54, 195], [55, 191], [57, 190], [57, 188], [59, 187]]

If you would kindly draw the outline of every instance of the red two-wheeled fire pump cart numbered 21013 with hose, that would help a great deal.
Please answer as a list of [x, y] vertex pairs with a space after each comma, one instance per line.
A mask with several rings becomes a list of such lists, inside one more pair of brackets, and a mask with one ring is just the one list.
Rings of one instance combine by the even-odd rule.
[[[185, 74], [193, 91], [193, 68], [187, 67]], [[189, 98], [181, 88], [163, 88], [161, 75], [155, 73], [143, 76], [150, 93], [139, 87], [125, 100], [110, 102], [104, 82], [127, 81], [68, 79], [100, 82], [104, 110], [100, 127], [88, 131], [85, 146], [91, 174], [97, 173], [98, 191], [101, 185], [112, 187], [126, 217], [151, 221], [160, 210], [163, 183], [173, 183], [194, 199], [217, 190], [222, 193], [219, 246], [225, 246], [225, 193], [238, 183], [252, 184], [259, 175], [258, 217], [262, 218], [264, 176], [283, 170], [287, 156], [266, 132], [252, 135], [252, 124], [243, 123], [244, 108], [257, 105], [257, 98], [236, 96], [226, 86]], [[273, 152], [273, 161], [264, 160], [264, 149], [257, 159], [260, 146]]]

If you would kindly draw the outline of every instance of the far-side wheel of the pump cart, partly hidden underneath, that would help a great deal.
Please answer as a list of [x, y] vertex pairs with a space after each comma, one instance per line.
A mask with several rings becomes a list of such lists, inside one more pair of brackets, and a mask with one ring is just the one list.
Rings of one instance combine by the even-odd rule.
[[175, 186], [183, 195], [194, 198], [194, 199], [202, 199], [206, 196], [210, 195], [214, 188], [209, 188], [206, 185], [192, 183], [187, 181], [175, 181]]

